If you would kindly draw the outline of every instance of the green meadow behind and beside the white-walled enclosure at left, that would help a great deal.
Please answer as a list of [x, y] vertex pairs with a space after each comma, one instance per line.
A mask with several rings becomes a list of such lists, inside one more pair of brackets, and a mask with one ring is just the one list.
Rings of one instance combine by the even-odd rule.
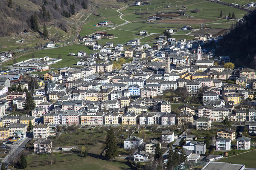
[[[79, 60], [77, 57], [69, 56], [68, 54], [73, 52], [76, 53], [78, 51], [86, 51], [90, 54], [90, 49], [85, 45], [67, 45], [60, 48], [52, 48], [47, 50], [41, 50], [34, 52], [35, 58], [43, 58], [44, 56], [49, 56], [50, 58], [58, 58], [58, 55], [61, 55], [62, 60], [60, 62], [57, 62], [56, 64], [50, 65], [50, 67], [53, 68], [62, 68], [67, 66], [73, 66], [76, 65], [76, 62]], [[32, 57], [32, 53], [25, 54], [21, 57], [16, 58], [17, 62], [24, 61], [26, 59], [30, 59]], [[9, 60], [8, 62], [2, 63], [3, 66], [9, 66], [13, 64], [13, 60]]]

